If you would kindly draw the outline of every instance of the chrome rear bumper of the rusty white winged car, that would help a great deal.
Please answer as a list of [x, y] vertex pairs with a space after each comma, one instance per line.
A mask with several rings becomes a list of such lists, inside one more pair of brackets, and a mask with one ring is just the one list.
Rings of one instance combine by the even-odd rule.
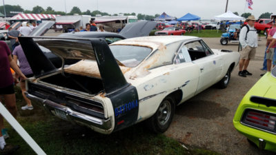
[[54, 114], [55, 116], [58, 116], [55, 110], [59, 110], [66, 115], [66, 118], [63, 117], [63, 119], [66, 119], [67, 121], [86, 125], [92, 130], [95, 130], [96, 132], [100, 132], [102, 134], [110, 134], [112, 132], [112, 123], [110, 121], [110, 118], [101, 119], [87, 114], [82, 114], [70, 109], [70, 107], [60, 105], [47, 99], [41, 99], [32, 94], [28, 94], [28, 92], [25, 92], [25, 94], [30, 100], [38, 103], [39, 105], [43, 105], [46, 110], [49, 110], [50, 113]]

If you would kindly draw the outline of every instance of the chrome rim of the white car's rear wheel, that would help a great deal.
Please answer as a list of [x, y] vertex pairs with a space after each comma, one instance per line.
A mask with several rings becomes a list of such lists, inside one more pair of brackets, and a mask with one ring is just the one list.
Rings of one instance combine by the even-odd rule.
[[165, 125], [170, 119], [172, 112], [170, 101], [163, 101], [158, 109], [157, 120], [160, 125]]

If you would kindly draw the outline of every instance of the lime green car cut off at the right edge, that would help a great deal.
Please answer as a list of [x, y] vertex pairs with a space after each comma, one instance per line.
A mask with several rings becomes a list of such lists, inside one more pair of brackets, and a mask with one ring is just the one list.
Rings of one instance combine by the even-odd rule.
[[233, 118], [238, 132], [259, 149], [276, 152], [276, 67], [262, 76], [239, 103]]

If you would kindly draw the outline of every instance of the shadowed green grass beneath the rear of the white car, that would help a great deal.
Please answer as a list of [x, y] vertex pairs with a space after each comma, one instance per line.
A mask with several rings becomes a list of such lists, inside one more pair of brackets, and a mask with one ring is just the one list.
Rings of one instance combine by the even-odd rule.
[[[21, 93], [17, 88], [17, 106], [25, 105]], [[46, 113], [40, 107], [34, 105], [34, 110], [22, 111], [17, 118], [24, 129], [34, 138], [46, 154], [217, 154], [206, 149], [186, 145], [185, 149], [178, 141], [164, 136], [164, 134], [152, 134], [139, 123], [125, 130], [110, 135], [93, 132], [87, 127], [73, 125], [55, 116]], [[23, 141], [12, 127], [6, 123], [10, 138], [7, 143], [21, 145], [17, 155], [35, 154], [28, 144]]]

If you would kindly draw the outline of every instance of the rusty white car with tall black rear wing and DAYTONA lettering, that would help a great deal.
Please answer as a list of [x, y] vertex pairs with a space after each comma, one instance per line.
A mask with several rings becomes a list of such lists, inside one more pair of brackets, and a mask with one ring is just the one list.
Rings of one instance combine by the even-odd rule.
[[[238, 52], [210, 50], [197, 37], [137, 37], [109, 46], [103, 39], [72, 37], [19, 41], [34, 72], [26, 96], [103, 134], [141, 121], [165, 132], [176, 105], [216, 83], [227, 87], [239, 61]], [[38, 45], [80, 61], [55, 68]]]

